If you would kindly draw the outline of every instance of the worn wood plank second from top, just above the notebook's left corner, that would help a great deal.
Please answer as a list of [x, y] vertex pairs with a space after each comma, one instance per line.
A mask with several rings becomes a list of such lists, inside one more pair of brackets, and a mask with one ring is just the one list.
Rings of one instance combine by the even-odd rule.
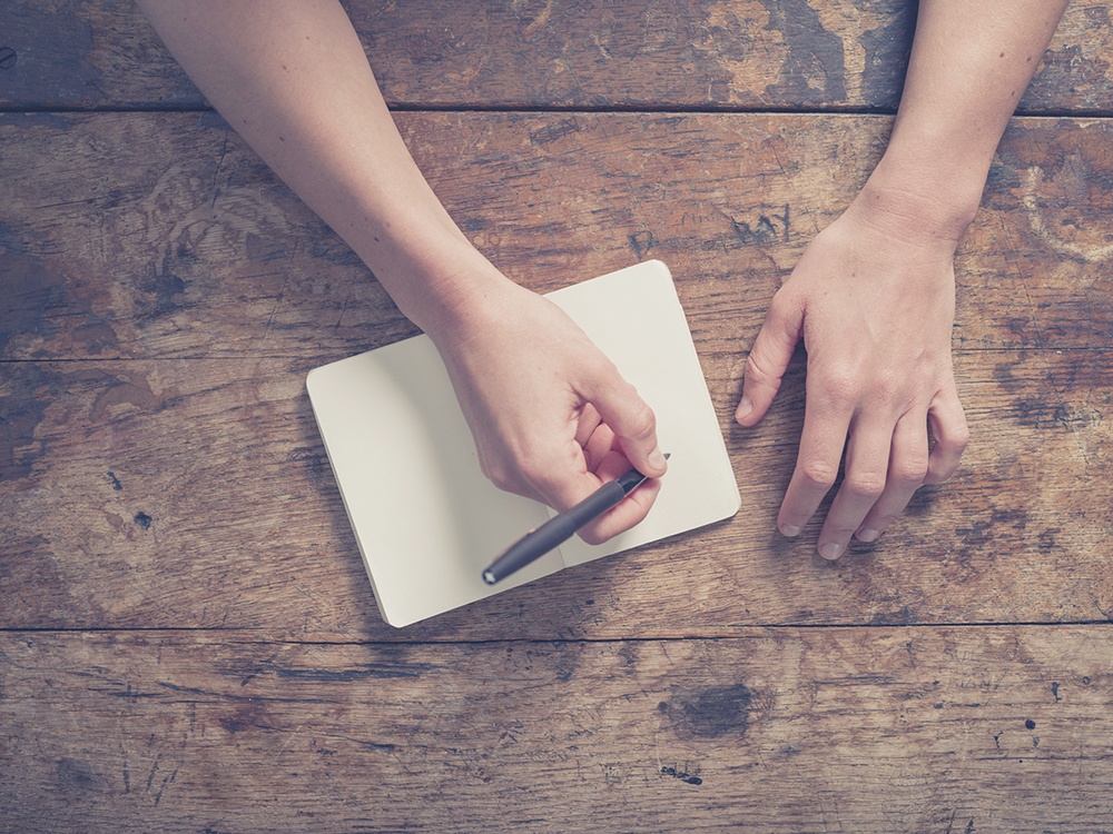
[[[648, 257], [701, 344], [745, 348], [887, 117], [403, 113], [457, 221], [544, 291]], [[958, 259], [959, 349], [1113, 340], [1113, 122], [1022, 119]], [[415, 329], [207, 115], [0, 117], [0, 358], [299, 356]], [[141, 149], [137, 153], [136, 150]], [[57, 163], [42, 166], [41, 159]]]

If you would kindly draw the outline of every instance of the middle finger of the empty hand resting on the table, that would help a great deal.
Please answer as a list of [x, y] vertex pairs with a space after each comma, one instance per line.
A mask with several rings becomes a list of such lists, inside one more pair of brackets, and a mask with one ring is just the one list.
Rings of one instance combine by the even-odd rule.
[[889, 421], [864, 421], [864, 425], [851, 427], [843, 486], [819, 532], [816, 549], [825, 559], [837, 559], [846, 553], [850, 536], [884, 494], [893, 430]]

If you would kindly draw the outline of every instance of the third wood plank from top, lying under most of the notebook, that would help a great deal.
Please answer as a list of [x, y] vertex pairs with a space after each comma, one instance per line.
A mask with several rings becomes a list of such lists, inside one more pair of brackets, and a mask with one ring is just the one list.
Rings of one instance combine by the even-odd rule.
[[774, 529], [801, 425], [802, 366], [747, 431], [730, 420], [742, 357], [703, 348], [741, 487], [738, 516], [403, 631], [374, 607], [305, 396], [307, 364], [6, 364], [0, 625], [425, 641], [1105, 620], [1107, 357], [963, 355], [973, 441], [959, 475], [833, 565], [814, 555], [818, 522], [797, 540]]

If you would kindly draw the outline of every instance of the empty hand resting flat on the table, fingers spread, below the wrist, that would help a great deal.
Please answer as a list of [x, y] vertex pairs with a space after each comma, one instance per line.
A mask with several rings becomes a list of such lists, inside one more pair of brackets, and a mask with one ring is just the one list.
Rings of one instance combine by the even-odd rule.
[[736, 413], [743, 426], [761, 419], [802, 337], [804, 430], [777, 526], [800, 533], [835, 484], [845, 446], [843, 485], [817, 546], [828, 559], [851, 536], [876, 539], [916, 489], [951, 477], [968, 437], [951, 359], [957, 240], [896, 207], [867, 187], [811, 242], [774, 296]]

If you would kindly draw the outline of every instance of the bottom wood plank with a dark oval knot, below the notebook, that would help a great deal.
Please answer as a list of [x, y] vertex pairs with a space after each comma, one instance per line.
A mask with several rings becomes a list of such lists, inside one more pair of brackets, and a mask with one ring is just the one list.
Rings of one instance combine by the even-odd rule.
[[1113, 827], [1110, 627], [0, 635], [20, 832]]

